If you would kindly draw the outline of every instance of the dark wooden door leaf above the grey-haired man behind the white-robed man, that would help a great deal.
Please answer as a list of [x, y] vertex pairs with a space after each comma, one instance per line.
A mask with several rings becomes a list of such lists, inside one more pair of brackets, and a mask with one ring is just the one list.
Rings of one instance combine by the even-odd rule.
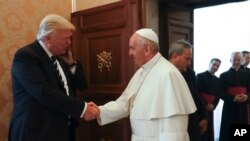
[[193, 43], [193, 9], [175, 5], [159, 6], [160, 52], [168, 58], [168, 49], [175, 40], [184, 39]]

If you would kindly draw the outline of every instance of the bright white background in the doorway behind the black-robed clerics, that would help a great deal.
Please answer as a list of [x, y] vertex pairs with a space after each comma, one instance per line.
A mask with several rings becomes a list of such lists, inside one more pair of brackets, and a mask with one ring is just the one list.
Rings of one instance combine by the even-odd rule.
[[[227, 71], [233, 51], [250, 51], [250, 1], [194, 10], [194, 69], [207, 70], [209, 61], [222, 60], [217, 76]], [[216, 108], [215, 137], [219, 136], [222, 103]]]

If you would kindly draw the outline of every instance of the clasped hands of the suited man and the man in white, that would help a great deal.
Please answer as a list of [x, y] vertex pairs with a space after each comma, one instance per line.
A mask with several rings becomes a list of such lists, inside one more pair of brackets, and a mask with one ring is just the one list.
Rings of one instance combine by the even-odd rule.
[[93, 119], [98, 119], [100, 117], [100, 109], [94, 102], [87, 103], [87, 109], [83, 115], [83, 118], [86, 121], [90, 121]]

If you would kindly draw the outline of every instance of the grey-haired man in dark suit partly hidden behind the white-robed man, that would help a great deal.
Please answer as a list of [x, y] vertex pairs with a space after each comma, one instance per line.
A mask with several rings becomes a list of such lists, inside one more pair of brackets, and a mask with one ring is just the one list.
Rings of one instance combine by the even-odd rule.
[[189, 115], [188, 134], [190, 141], [200, 141], [200, 137], [207, 130], [208, 115], [205, 105], [196, 90], [195, 72], [190, 69], [192, 63], [192, 45], [184, 40], [173, 42], [168, 51], [169, 61], [178, 68], [185, 78], [197, 111]]

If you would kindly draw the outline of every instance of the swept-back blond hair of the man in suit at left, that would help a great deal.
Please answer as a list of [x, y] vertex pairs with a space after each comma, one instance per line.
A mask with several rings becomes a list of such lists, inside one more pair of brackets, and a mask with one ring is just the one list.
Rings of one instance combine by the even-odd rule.
[[49, 14], [42, 19], [36, 38], [37, 40], [43, 40], [45, 36], [50, 35], [57, 29], [69, 29], [73, 31], [75, 30], [75, 26], [59, 15]]

